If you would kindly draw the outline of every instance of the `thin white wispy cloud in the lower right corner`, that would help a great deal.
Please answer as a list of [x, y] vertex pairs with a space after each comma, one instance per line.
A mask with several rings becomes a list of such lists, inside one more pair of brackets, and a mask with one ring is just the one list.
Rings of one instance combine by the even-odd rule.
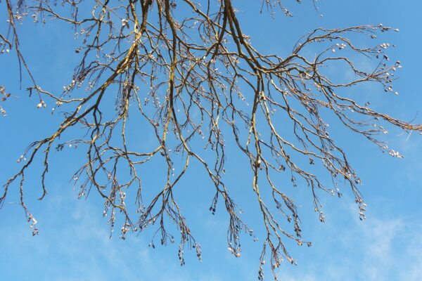
[[326, 240], [316, 253], [321, 259], [282, 268], [280, 280], [421, 280], [422, 221], [371, 214], [363, 223], [335, 227], [331, 236], [316, 237]]

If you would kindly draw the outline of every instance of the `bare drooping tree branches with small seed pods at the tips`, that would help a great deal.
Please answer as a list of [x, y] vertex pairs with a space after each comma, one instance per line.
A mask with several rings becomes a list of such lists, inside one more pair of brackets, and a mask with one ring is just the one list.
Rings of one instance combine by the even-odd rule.
[[[29, 74], [32, 83], [28, 91], [39, 98], [37, 107], [55, 103], [53, 110], [60, 107], [65, 112], [56, 131], [28, 146], [19, 159], [23, 166], [3, 186], [0, 197], [0, 204], [4, 203], [12, 183], [18, 183], [20, 204], [34, 235], [38, 233], [37, 221], [25, 205], [25, 173], [34, 157], [43, 155], [40, 199], [44, 198], [49, 155], [54, 149], [72, 145], [87, 155], [86, 162], [73, 175], [80, 186], [79, 197], [96, 190], [104, 200], [104, 216], [108, 215], [111, 228], [117, 214], [121, 214], [122, 238], [128, 232], [153, 226], [161, 244], [167, 244], [174, 237], [167, 233], [166, 222], [173, 221], [180, 231], [181, 265], [186, 247], [195, 248], [198, 259], [201, 251], [174, 200], [174, 187], [189, 166], [201, 166], [215, 189], [210, 211], [215, 213], [220, 200], [229, 214], [229, 250], [240, 256], [241, 233], [253, 233], [239, 216], [230, 188], [224, 184], [226, 149], [237, 148], [250, 162], [251, 192], [257, 197], [254, 204], [262, 212], [266, 233], [258, 277], [264, 277], [265, 259], [269, 259], [276, 277], [274, 270], [283, 259], [295, 263], [284, 239], [299, 245], [311, 243], [302, 240], [297, 205], [274, 177], [287, 176], [293, 186], [307, 185], [314, 211], [322, 222], [319, 194], [328, 192], [340, 197], [338, 185], [345, 181], [359, 206], [360, 218], [365, 217], [359, 177], [343, 149], [328, 134], [327, 118], [335, 119], [393, 157], [402, 155], [384, 143], [381, 136], [387, 130], [383, 126], [405, 132], [422, 130], [420, 124], [377, 112], [369, 103], [362, 104], [348, 94], [350, 88], [366, 83], [379, 84], [386, 92], [395, 93], [392, 81], [401, 64], [390, 61], [385, 54], [390, 44], [377, 39], [378, 33], [392, 31], [390, 27], [316, 28], [302, 37], [289, 55], [281, 57], [263, 53], [251, 44], [231, 0], [93, 2], [4, 1], [8, 26], [2, 27], [6, 32], [0, 34], [1, 53], [15, 51], [22, 71]], [[280, 0], [262, 0], [262, 11], [273, 13], [277, 9], [291, 15]], [[37, 84], [39, 74], [32, 74], [25, 63], [17, 25], [27, 16], [34, 22], [56, 20], [74, 27], [79, 42], [75, 53], [80, 62], [65, 89], [44, 89]], [[366, 38], [373, 40], [373, 46], [359, 46], [359, 41]], [[309, 56], [308, 50], [317, 55]], [[367, 70], [354, 63], [357, 58], [376, 64]], [[326, 74], [327, 67], [338, 67], [352, 78], [335, 81], [336, 77]], [[4, 87], [0, 93], [2, 100], [10, 96]], [[115, 100], [113, 112], [110, 98]], [[6, 115], [2, 107], [0, 110]], [[132, 149], [127, 137], [129, 117], [149, 124], [155, 137], [153, 149]], [[80, 137], [65, 135], [72, 127], [82, 131]], [[152, 200], [143, 200], [145, 190], [137, 169], [155, 158], [165, 162], [165, 183]], [[179, 162], [183, 164], [175, 164]], [[317, 169], [313, 164], [327, 173], [314, 172]], [[324, 178], [331, 178], [331, 183], [325, 183]], [[136, 202], [134, 211], [125, 204], [128, 190], [136, 190], [136, 198], [131, 198]], [[269, 190], [272, 198], [264, 199], [261, 190]], [[292, 225], [291, 231], [281, 225], [283, 217]]]

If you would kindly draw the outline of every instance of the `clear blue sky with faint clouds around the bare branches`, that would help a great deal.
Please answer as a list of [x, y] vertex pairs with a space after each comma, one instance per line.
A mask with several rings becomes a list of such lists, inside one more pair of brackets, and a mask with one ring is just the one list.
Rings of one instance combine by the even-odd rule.
[[[415, 122], [422, 122], [419, 85], [422, 53], [418, 51], [422, 43], [421, 1], [318, 1], [323, 17], [314, 11], [310, 1], [301, 5], [285, 1], [294, 17], [286, 18], [280, 11], [275, 19], [268, 13], [260, 14], [257, 2], [235, 3], [242, 11], [239, 18], [244, 32], [268, 53], [288, 51], [302, 34], [319, 26], [382, 22], [399, 28], [400, 32], [389, 34], [389, 41], [397, 45], [391, 51], [392, 56], [404, 65], [400, 79], [395, 82], [400, 95], [385, 96], [371, 86], [357, 94], [371, 96], [378, 109], [401, 119], [413, 119], [419, 111]], [[5, 18], [5, 4], [0, 5], [0, 16]], [[262, 27], [268, 30], [262, 32]], [[4, 30], [4, 23], [0, 28]], [[61, 89], [68, 84], [76, 63], [72, 31], [53, 24], [43, 29], [25, 22], [20, 32], [23, 52], [39, 84], [49, 89]], [[39, 100], [28, 98], [19, 89], [13, 52], [0, 56], [0, 62], [0, 84], [16, 96], [2, 105], [8, 115], [0, 119], [0, 181], [4, 183], [18, 170], [16, 159], [26, 145], [51, 133], [58, 118], [51, 117], [49, 110], [37, 110]], [[24, 79], [22, 88], [27, 85]], [[321, 197], [326, 223], [319, 223], [309, 209], [309, 194], [298, 189], [302, 234], [313, 246], [289, 244], [298, 266], [283, 263], [279, 269], [280, 280], [421, 280], [421, 136], [390, 134], [390, 146], [401, 152], [404, 159], [388, 157], [351, 134], [338, 133], [336, 137], [364, 183], [367, 219], [359, 221], [352, 196], [344, 192], [341, 200], [328, 195]], [[40, 195], [41, 167], [34, 166], [27, 175], [27, 204], [39, 222], [40, 234], [36, 237], [31, 235], [22, 208], [15, 204], [18, 190], [13, 186], [0, 209], [0, 280], [256, 280], [260, 242], [252, 242], [245, 235], [242, 256], [235, 259], [229, 253], [226, 216], [218, 211], [212, 216], [207, 210], [211, 186], [194, 169], [183, 182], [179, 196], [185, 196], [185, 214], [202, 245], [203, 262], [195, 259], [195, 253], [186, 251], [186, 266], [180, 267], [177, 245], [151, 249], [148, 247], [151, 233], [129, 235], [124, 241], [117, 233], [108, 238], [101, 201], [94, 194], [87, 200], [77, 200], [78, 190], [70, 183], [70, 176], [81, 159], [81, 155], [70, 149], [53, 156], [55, 165], [49, 173], [49, 195], [41, 202], [36, 200]], [[251, 180], [244, 162], [245, 159], [232, 159], [234, 164], [227, 169], [226, 181], [238, 195], [245, 221], [255, 226], [258, 217], [249, 206], [249, 195], [242, 192], [243, 188], [250, 188]], [[150, 169], [145, 171], [149, 174], [146, 182], [152, 184], [155, 172], [153, 166]], [[271, 280], [268, 268], [266, 277]]]

